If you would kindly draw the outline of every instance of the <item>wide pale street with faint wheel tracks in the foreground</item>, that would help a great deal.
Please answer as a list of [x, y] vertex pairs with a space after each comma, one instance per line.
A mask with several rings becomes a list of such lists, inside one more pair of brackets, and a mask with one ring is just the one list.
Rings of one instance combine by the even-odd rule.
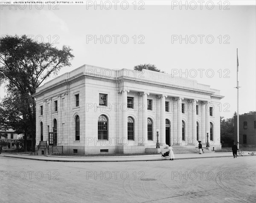
[[74, 163], [0, 157], [5, 202], [256, 202], [256, 157]]

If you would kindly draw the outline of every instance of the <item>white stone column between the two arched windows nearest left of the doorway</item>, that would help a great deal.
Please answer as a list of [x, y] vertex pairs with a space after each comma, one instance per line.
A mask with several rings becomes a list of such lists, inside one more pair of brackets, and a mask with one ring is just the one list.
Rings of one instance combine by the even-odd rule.
[[143, 103], [143, 111], [142, 111], [142, 137], [143, 143], [142, 145], [146, 145], [148, 143], [148, 95], [147, 92], [140, 92], [142, 95], [142, 103]]

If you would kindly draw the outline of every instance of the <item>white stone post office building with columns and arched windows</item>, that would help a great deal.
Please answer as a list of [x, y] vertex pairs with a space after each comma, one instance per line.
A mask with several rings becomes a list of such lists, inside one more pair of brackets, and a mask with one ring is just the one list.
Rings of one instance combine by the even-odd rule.
[[64, 153], [220, 144], [220, 91], [155, 71], [84, 65], [38, 87], [36, 140]]

